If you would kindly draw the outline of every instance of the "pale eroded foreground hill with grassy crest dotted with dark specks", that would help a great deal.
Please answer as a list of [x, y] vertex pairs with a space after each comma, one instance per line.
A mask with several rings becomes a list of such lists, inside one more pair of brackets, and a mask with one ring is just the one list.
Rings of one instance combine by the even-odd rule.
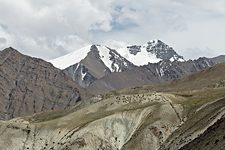
[[143, 150], [149, 150], [146, 145], [156, 150], [181, 123], [182, 106], [170, 97], [163, 93], [98, 97], [99, 102], [57, 118], [44, 113], [0, 121], [0, 149], [121, 150], [140, 128], [151, 128], [146, 132], [149, 138], [139, 143]]

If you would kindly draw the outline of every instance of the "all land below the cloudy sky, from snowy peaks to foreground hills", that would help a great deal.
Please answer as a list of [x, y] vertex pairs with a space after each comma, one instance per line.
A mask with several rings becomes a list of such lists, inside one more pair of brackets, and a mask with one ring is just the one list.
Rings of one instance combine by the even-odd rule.
[[224, 150], [225, 56], [160, 40], [46, 62], [0, 51], [0, 150]]

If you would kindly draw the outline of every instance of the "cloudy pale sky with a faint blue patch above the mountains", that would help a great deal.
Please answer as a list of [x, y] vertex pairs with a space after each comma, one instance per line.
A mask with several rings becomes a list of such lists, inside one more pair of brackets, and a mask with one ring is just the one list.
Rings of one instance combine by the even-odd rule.
[[212, 57], [225, 54], [224, 27], [224, 0], [0, 0], [0, 49], [46, 60], [152, 39], [186, 59]]

